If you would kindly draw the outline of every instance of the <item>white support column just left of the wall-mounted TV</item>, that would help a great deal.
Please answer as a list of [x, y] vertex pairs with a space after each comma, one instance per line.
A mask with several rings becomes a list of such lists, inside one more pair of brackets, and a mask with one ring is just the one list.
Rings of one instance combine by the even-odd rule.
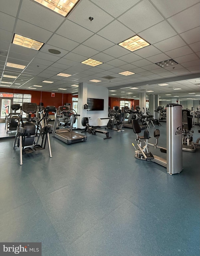
[[80, 129], [84, 127], [81, 124], [81, 120], [83, 117], [87, 117], [87, 109], [83, 109], [83, 105], [87, 103], [88, 98], [88, 84], [87, 83], [79, 83], [78, 85], [78, 114], [80, 117], [77, 119], [77, 126]]

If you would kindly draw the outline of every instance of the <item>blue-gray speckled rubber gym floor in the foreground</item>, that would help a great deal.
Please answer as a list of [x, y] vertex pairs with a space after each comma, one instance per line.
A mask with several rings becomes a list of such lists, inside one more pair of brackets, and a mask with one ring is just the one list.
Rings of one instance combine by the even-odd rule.
[[[51, 138], [53, 158], [46, 148], [22, 166], [13, 138], [1, 139], [0, 241], [42, 242], [42, 256], [199, 256], [200, 149], [183, 152], [171, 176], [135, 159], [136, 135], [124, 129], [71, 145]], [[165, 147], [166, 123], [159, 129]]]

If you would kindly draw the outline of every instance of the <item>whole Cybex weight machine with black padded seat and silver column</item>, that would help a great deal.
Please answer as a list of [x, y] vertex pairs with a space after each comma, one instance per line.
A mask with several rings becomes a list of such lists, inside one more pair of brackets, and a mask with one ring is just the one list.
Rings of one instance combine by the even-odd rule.
[[[137, 120], [132, 120], [133, 132], [137, 134], [138, 141], [137, 149], [135, 147], [135, 158], [146, 161], [152, 161], [167, 168], [167, 172], [172, 175], [179, 173], [183, 170], [183, 150], [182, 150], [182, 106], [178, 104], [167, 105], [167, 149], [158, 146], [158, 138], [160, 131], [154, 131], [156, 143], [151, 144], [148, 142], [148, 130], [144, 131], [143, 136], [139, 133], [141, 129]], [[149, 146], [154, 149], [160, 149], [162, 153], [167, 154], [167, 159], [153, 155], [149, 150]]]

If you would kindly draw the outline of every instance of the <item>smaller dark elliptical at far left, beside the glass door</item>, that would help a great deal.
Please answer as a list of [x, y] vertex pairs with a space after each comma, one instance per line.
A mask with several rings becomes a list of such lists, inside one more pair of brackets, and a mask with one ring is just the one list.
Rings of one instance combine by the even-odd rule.
[[[9, 107], [9, 106], [7, 106], [7, 107]], [[20, 104], [11, 104], [11, 109], [14, 112], [8, 113], [8, 116], [6, 115], [6, 124], [5, 124], [6, 133], [8, 133], [10, 131], [16, 131], [17, 127], [18, 127], [17, 123], [20, 119], [20, 113], [16, 112], [16, 111], [20, 110]]]

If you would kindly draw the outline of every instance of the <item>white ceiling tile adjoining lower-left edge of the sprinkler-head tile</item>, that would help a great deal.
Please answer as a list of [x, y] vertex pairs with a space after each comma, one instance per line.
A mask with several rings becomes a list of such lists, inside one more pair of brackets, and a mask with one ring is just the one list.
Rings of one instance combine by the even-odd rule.
[[[83, 26], [83, 24], [80, 25]], [[56, 31], [56, 34], [62, 35], [78, 43], [82, 43], [94, 34], [82, 26], [79, 26], [78, 24], [75, 24], [74, 22], [66, 19], [65, 22]]]

